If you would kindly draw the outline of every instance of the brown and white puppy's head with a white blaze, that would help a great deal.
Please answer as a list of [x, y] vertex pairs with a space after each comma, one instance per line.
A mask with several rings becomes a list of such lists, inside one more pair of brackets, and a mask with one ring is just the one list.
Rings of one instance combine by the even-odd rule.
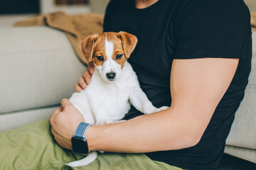
[[129, 33], [107, 32], [93, 34], [80, 42], [82, 55], [93, 62], [102, 79], [114, 81], [122, 73], [124, 62], [137, 45], [137, 38]]

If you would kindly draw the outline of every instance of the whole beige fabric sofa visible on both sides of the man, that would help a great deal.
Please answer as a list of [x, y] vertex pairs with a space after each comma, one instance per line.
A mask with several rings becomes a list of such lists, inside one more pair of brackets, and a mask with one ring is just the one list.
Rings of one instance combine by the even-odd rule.
[[[0, 132], [48, 118], [73, 94], [85, 65], [65, 34], [48, 28], [12, 27], [0, 18]], [[6, 24], [6, 21], [8, 21]], [[256, 33], [253, 33], [256, 42]], [[225, 152], [256, 163], [256, 44], [245, 98], [235, 115]]]

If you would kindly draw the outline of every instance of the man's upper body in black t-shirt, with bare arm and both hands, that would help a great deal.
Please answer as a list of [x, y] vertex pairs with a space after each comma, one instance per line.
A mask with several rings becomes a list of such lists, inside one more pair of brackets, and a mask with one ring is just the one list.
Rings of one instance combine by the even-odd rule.
[[[112, 0], [104, 31], [119, 30], [139, 40], [128, 61], [149, 100], [171, 106], [151, 115], [132, 108], [126, 122], [92, 126], [85, 137], [89, 149], [146, 153], [183, 169], [217, 169], [250, 73], [250, 13], [244, 2]], [[76, 91], [90, 83], [92, 68]], [[52, 131], [71, 149], [70, 138], [83, 119], [67, 99], [62, 106], [53, 113]]]

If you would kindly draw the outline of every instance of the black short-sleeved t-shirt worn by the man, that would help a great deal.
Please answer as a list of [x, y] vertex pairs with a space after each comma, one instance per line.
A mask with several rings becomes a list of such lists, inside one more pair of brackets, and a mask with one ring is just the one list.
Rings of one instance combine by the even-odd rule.
[[[183, 169], [217, 169], [225, 139], [244, 96], [251, 67], [250, 12], [242, 0], [159, 0], [138, 9], [134, 0], [112, 0], [104, 31], [132, 33], [138, 44], [129, 58], [142, 90], [156, 107], [170, 106], [174, 59], [239, 58], [228, 91], [213, 113], [200, 142], [186, 149], [147, 155]], [[184, 103], [186, 105], [186, 103]], [[141, 115], [131, 108], [126, 119]]]

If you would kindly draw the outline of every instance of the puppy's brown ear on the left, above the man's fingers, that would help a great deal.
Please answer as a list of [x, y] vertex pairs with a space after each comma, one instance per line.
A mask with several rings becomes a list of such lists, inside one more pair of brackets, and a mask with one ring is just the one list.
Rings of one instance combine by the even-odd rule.
[[95, 46], [95, 41], [97, 40], [97, 38], [98, 34], [92, 34], [84, 40], [80, 41], [80, 49], [82, 51], [82, 55], [85, 56], [87, 62], [92, 61], [93, 47]]

